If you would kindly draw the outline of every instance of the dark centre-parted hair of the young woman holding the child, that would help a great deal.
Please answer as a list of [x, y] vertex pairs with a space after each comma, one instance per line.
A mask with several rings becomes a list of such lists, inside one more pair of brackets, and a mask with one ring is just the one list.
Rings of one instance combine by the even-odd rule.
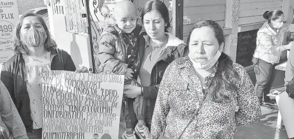
[[167, 28], [169, 28], [170, 26], [168, 9], [165, 4], [160, 0], [149, 0], [145, 3], [141, 14], [142, 24], [144, 24], [144, 15], [148, 12], [151, 12], [152, 10], [157, 11], [163, 17], [163, 20], [166, 23], [166, 26], [164, 27], [164, 32], [168, 32]]

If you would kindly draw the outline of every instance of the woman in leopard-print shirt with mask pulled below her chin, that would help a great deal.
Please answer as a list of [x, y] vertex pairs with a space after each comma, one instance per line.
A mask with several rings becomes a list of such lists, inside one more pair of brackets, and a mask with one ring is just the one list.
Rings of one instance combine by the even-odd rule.
[[187, 42], [189, 55], [173, 61], [163, 75], [151, 137], [233, 139], [236, 126], [261, 118], [253, 83], [244, 67], [222, 53], [224, 33], [216, 22], [196, 23]]

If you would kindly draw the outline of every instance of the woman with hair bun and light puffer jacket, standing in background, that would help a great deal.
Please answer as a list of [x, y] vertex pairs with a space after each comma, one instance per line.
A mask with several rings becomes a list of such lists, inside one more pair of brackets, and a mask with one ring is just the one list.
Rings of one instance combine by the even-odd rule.
[[274, 67], [280, 61], [281, 52], [290, 49], [293, 42], [282, 45], [285, 30], [282, 27], [285, 16], [281, 10], [266, 11], [263, 17], [267, 21], [257, 33], [257, 47], [252, 62], [256, 74], [255, 90], [261, 109], [269, 110], [271, 108], [269, 105], [276, 105], [275, 101], [270, 101], [266, 96], [275, 77]]

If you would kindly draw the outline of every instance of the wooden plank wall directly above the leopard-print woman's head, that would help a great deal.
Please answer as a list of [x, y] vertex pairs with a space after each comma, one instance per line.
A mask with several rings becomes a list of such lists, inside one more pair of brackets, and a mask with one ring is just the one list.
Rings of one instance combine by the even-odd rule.
[[192, 26], [202, 20], [216, 21], [224, 28], [225, 11], [226, 0], [184, 0], [184, 41]]

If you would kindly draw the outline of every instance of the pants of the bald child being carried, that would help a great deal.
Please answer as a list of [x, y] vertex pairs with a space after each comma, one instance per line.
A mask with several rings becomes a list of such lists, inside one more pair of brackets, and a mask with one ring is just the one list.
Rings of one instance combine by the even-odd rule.
[[[131, 84], [135, 86], [140, 86], [139, 83], [137, 83], [136, 80], [129, 80], [126, 81], [125, 84]], [[127, 98], [125, 99], [125, 109], [124, 109], [124, 117], [126, 122], [127, 128], [133, 128], [134, 124], [136, 123], [136, 120], [145, 120], [145, 112], [146, 112], [146, 100], [144, 99], [143, 95], [139, 95], [136, 98]], [[132, 110], [129, 110], [133, 108], [133, 112], [130, 112]]]

